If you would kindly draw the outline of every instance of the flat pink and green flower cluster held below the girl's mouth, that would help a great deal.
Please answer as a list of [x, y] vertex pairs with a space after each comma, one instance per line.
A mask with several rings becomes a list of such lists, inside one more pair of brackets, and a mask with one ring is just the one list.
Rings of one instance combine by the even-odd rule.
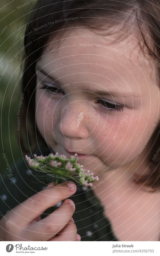
[[58, 152], [55, 155], [50, 153], [48, 156], [37, 156], [36, 154], [33, 156], [33, 159], [27, 155], [25, 156], [28, 166], [39, 173], [38, 178], [55, 182], [55, 185], [71, 180], [82, 186], [92, 187], [92, 182], [99, 180], [98, 176], [93, 176], [93, 172], [76, 163], [77, 153], [71, 156], [70, 159], [65, 155], [59, 155]]

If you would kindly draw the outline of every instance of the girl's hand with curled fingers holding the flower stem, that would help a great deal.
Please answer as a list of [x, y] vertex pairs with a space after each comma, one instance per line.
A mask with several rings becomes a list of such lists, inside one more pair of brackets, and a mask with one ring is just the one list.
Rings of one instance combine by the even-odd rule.
[[[68, 187], [68, 185], [73, 186]], [[71, 220], [75, 205], [71, 199], [66, 199], [73, 195], [76, 189], [76, 185], [70, 181], [56, 186], [51, 183], [44, 190], [17, 205], [0, 220], [0, 239], [2, 241], [79, 241], [77, 227]], [[58, 209], [41, 220], [40, 215], [47, 208], [64, 199], [66, 200]]]

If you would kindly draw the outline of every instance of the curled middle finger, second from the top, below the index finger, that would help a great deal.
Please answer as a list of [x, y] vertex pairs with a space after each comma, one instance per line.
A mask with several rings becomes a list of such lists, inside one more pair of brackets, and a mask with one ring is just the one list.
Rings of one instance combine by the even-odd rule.
[[31, 241], [47, 241], [66, 226], [74, 210], [74, 202], [71, 199], [66, 199], [58, 209], [44, 219], [24, 227], [23, 233], [25, 234], [25, 239], [30, 239]]

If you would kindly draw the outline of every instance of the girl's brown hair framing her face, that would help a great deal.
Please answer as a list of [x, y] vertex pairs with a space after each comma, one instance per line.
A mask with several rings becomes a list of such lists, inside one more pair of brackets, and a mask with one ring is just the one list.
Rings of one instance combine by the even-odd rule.
[[[23, 121], [20, 129], [20, 143], [21, 148], [26, 153], [28, 153], [29, 150], [25, 146], [27, 141], [24, 134], [27, 134], [30, 150], [35, 149], [37, 141], [38, 143], [42, 141], [45, 144], [35, 124], [35, 65], [50, 38], [54, 38], [59, 34], [62, 35], [62, 30], [70, 29], [71, 26], [76, 28], [77, 25], [89, 27], [97, 32], [102, 31], [103, 27], [101, 27], [101, 24], [107, 24], [109, 27], [124, 24], [123, 26], [119, 26], [119, 33], [125, 35], [123, 32], [126, 27], [125, 25], [134, 24], [134, 22], [137, 21], [142, 35], [142, 43], [140, 43], [140, 46], [145, 53], [145, 49], [147, 49], [150, 54], [149, 56], [152, 57], [153, 60], [155, 58], [156, 81], [158, 87], [160, 87], [160, 65], [157, 65], [160, 61], [159, 10], [159, 0], [37, 1], [34, 10], [28, 17], [24, 36], [24, 45], [29, 46], [25, 48], [23, 60], [22, 90], [25, 95], [22, 106]], [[53, 21], [60, 22], [54, 22], [53, 24]], [[44, 27], [44, 24], [50, 25]], [[146, 31], [144, 32], [144, 30]], [[149, 38], [152, 38], [153, 47], [147, 43]], [[160, 153], [157, 154], [158, 148], [160, 148], [159, 141], [160, 124], [156, 127], [148, 143], [150, 149], [148, 159], [152, 173], [149, 176], [140, 177], [136, 181], [146, 182], [146, 184], [153, 189], [160, 188]]]

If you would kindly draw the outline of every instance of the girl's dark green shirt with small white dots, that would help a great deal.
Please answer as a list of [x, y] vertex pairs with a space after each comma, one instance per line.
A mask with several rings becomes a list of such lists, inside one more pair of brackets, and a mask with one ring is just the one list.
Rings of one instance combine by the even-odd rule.
[[[46, 156], [50, 151], [46, 148], [41, 152], [35, 150], [34, 153]], [[8, 172], [6, 169], [1, 175], [0, 219], [8, 211], [47, 185], [47, 183], [42, 183], [35, 178], [33, 171], [26, 164], [25, 157], [20, 158], [15, 166], [11, 167], [11, 171]], [[9, 175], [11, 175], [10, 179]], [[119, 241], [113, 234], [109, 220], [104, 216], [103, 205], [93, 194], [92, 189], [89, 190], [78, 185], [76, 193], [69, 198], [74, 201], [76, 206], [73, 219], [77, 226], [77, 233], [81, 236], [81, 241]], [[62, 201], [55, 205], [54, 209], [60, 207], [61, 204]], [[41, 215], [41, 219], [52, 211], [52, 207], [48, 208]]]

